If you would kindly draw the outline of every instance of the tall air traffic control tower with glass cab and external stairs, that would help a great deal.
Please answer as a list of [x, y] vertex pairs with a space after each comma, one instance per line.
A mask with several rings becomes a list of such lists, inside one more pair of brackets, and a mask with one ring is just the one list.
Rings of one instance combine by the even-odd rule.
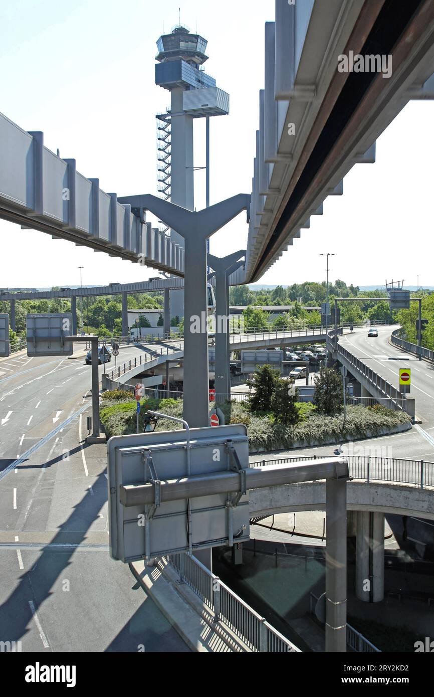
[[[171, 92], [170, 111], [157, 116], [170, 124], [171, 129], [169, 167], [165, 148], [160, 172], [164, 168], [165, 198], [169, 199], [170, 191], [171, 202], [188, 210], [194, 210], [193, 119], [206, 118], [206, 205], [209, 206], [209, 119], [229, 113], [228, 93], [219, 89], [215, 79], [202, 67], [208, 61], [207, 43], [185, 26], [174, 27], [171, 34], [164, 34], [157, 41], [159, 62], [155, 66], [155, 84]], [[183, 238], [175, 230], [171, 230], [171, 238], [184, 247]], [[176, 315], [184, 316], [183, 291], [171, 292], [171, 317]]]

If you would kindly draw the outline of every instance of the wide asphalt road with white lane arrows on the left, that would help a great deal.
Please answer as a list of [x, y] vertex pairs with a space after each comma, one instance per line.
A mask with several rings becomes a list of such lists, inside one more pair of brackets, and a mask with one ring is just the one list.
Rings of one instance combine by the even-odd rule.
[[106, 447], [84, 442], [90, 387], [84, 355], [0, 361], [0, 641], [187, 651], [130, 569], [109, 558]]

